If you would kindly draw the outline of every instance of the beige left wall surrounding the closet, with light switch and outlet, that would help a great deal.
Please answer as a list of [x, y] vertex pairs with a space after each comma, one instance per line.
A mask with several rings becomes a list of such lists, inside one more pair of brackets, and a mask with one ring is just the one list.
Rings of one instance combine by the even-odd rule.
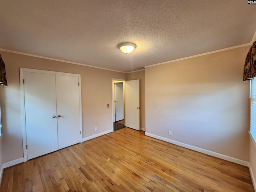
[[125, 73], [10, 52], [0, 54], [6, 64], [8, 81], [8, 86], [0, 87], [4, 163], [23, 157], [19, 67], [81, 74], [83, 138], [112, 130], [111, 78], [125, 79]]

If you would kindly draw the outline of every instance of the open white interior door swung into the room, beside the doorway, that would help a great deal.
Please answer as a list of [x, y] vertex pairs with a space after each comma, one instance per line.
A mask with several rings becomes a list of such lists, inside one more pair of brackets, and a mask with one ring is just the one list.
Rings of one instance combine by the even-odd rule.
[[125, 126], [140, 130], [140, 80], [125, 82]]

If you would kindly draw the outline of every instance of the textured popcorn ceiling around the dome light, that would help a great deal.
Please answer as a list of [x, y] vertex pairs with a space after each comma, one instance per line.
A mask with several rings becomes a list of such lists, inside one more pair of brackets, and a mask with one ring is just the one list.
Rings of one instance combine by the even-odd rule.
[[250, 43], [255, 13], [246, 0], [1, 0], [0, 48], [130, 72]]

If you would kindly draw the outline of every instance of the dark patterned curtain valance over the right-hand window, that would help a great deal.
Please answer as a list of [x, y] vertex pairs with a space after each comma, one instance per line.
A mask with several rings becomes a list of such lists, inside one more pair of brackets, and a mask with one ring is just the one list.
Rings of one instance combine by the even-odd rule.
[[256, 42], [254, 42], [245, 58], [244, 81], [249, 81], [256, 76]]

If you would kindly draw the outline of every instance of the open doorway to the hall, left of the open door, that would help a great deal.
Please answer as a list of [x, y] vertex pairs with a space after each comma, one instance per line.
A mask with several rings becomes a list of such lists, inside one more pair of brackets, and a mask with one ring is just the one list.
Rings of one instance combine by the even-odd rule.
[[113, 126], [114, 131], [125, 127], [124, 125], [124, 81], [112, 80], [113, 87]]

